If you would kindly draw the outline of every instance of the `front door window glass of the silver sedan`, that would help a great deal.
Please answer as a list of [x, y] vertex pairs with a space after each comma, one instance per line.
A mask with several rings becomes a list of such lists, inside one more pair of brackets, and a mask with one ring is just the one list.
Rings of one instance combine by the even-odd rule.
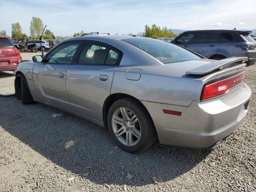
[[70, 64], [80, 42], [64, 43], [50, 52], [46, 58], [46, 62], [53, 64]]

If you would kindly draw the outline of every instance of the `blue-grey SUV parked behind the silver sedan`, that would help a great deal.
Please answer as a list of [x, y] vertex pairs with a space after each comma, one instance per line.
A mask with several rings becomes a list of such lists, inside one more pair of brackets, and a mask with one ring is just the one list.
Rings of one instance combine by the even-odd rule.
[[246, 30], [195, 30], [180, 34], [172, 42], [202, 56], [221, 60], [246, 56], [247, 66], [256, 62], [256, 41]]

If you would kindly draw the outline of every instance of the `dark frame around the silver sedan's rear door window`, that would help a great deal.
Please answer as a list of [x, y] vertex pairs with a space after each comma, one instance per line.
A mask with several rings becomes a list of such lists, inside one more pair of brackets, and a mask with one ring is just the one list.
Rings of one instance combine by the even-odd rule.
[[[99, 44], [99, 45], [102, 45], [102, 46], [104, 46], [106, 48], [109, 48], [110, 50], [113, 50], [113, 51], [117, 52], [118, 53], [118, 58], [116, 60], [116, 64], [111, 64], [111, 65], [110, 64], [106, 64], [106, 60], [105, 60], [104, 64], [80, 64], [80, 63], [78, 63], [79, 57], [82, 54], [82, 50], [83, 50], [84, 46], [86, 45], [86, 42]], [[104, 43], [104, 42], [100, 42], [100, 41], [96, 41], [96, 40], [83, 40], [83, 43], [81, 44], [79, 52], [78, 52], [78, 54], [76, 55], [76, 57], [74, 59], [73, 65], [84, 65], [84, 66], [119, 66], [120, 62], [122, 60], [122, 57], [123, 57], [123, 52], [120, 51], [118, 48], [115, 48], [114, 46], [110, 45], [110, 44], [107, 44], [107, 43]]]

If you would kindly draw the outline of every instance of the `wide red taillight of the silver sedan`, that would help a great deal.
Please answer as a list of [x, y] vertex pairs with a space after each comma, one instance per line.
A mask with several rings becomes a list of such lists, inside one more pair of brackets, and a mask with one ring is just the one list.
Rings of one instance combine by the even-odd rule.
[[236, 76], [219, 80], [211, 84], [206, 84], [202, 92], [201, 100], [206, 100], [226, 94], [230, 88], [243, 82], [244, 78], [245, 72], [242, 72]]

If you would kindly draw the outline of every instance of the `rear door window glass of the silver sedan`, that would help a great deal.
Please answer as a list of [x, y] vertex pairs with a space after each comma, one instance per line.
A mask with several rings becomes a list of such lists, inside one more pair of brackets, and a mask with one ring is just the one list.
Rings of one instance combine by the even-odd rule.
[[116, 65], [118, 56], [118, 52], [105, 45], [86, 42], [78, 59], [78, 64]]

